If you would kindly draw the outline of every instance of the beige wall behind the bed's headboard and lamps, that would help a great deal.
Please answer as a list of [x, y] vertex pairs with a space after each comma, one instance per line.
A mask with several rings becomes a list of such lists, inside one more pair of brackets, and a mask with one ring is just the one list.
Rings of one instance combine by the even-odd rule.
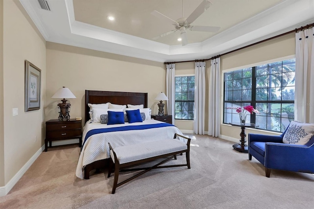
[[51, 97], [62, 86], [77, 97], [68, 100], [71, 118], [81, 116], [84, 121], [85, 89], [147, 92], [148, 106], [157, 114], [155, 98], [165, 92], [165, 77], [160, 62], [47, 42], [46, 119], [58, 117], [61, 101]]

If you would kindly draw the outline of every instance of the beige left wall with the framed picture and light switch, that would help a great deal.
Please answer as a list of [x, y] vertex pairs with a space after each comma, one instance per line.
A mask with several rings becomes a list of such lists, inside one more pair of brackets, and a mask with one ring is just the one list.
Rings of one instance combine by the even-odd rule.
[[[46, 41], [19, 0], [3, 1], [4, 184], [41, 148], [45, 121]], [[24, 60], [41, 69], [41, 108], [24, 111]], [[2, 93], [1, 92], [1, 93]], [[18, 115], [12, 116], [12, 108]], [[37, 140], [35, 141], [35, 138]]]

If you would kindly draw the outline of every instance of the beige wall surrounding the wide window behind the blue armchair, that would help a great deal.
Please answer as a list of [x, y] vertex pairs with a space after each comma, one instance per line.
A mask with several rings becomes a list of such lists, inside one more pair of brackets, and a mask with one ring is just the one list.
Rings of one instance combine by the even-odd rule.
[[[256, 63], [273, 60], [281, 57], [287, 57], [295, 54], [295, 38], [294, 33], [281, 36], [261, 44], [239, 50], [237, 52], [229, 53], [221, 56], [221, 72], [228, 69], [239, 68], [241, 66], [253, 65]], [[239, 68], [240, 69], [240, 68]], [[223, 73], [221, 73], [223, 77]], [[223, 84], [221, 91], [221, 107], [223, 108]], [[221, 110], [221, 121], [223, 121], [223, 109]], [[232, 127], [227, 124], [221, 124], [221, 135], [240, 138], [239, 128]], [[248, 133], [265, 133], [274, 134], [278, 133], [270, 131], [259, 131], [253, 129], [246, 129]]]

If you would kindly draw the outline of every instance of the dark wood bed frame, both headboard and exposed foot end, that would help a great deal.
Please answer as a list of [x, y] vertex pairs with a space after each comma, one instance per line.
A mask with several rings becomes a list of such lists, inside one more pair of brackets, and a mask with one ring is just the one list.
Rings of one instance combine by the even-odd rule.
[[[148, 93], [85, 90], [85, 123], [90, 119], [90, 108], [88, 104], [102, 104], [108, 102], [112, 104], [144, 104], [144, 107], [147, 108]], [[108, 165], [109, 158], [86, 165], [84, 168], [84, 179], [89, 179], [90, 171], [95, 169], [99, 171], [99, 169], [105, 168]]]

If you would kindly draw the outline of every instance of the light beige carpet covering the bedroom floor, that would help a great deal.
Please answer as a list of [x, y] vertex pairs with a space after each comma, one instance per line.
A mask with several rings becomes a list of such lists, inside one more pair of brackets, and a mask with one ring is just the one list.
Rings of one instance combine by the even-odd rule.
[[[190, 135], [191, 136], [191, 135]], [[1, 209], [314, 209], [314, 175], [272, 170], [207, 135], [191, 141], [191, 169], [155, 169], [111, 194], [107, 170], [75, 176], [80, 148], [49, 148], [4, 197]], [[300, 159], [302, 160], [302, 159]], [[168, 163], [185, 163], [185, 155]], [[130, 173], [120, 176], [119, 182]]]

